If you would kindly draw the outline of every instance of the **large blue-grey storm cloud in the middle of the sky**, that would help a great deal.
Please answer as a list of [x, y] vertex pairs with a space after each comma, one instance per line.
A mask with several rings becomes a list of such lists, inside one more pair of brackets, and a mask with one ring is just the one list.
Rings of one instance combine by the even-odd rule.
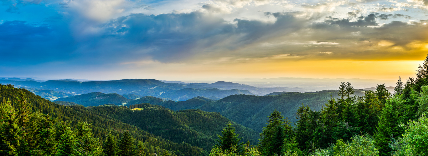
[[[106, 24], [105, 28], [109, 32], [106, 37], [128, 45], [125, 47], [134, 47], [123, 52], [174, 62], [196, 53], [203, 54], [207, 49], [236, 50], [258, 40], [301, 29], [304, 23], [297, 21], [294, 14], [272, 13], [275, 23], [235, 19], [236, 25], [202, 12], [132, 14]], [[137, 49], [150, 50], [137, 52]]]

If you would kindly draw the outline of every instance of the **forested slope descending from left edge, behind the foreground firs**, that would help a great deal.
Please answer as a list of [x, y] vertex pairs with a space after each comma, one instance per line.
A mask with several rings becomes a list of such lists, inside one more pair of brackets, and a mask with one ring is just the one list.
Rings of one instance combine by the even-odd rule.
[[[177, 143], [177, 142], [172, 142], [172, 141], [163, 139], [162, 137], [155, 136], [151, 133], [143, 131], [138, 127], [132, 126], [130, 124], [125, 124], [122, 121], [114, 119], [113, 117], [93, 112], [91, 111], [92, 109], [87, 109], [79, 105], [77, 106], [58, 105], [51, 101], [43, 99], [40, 96], [34, 95], [33, 93], [27, 90], [13, 88], [12, 85], [7, 85], [7, 86], [0, 85], [0, 103], [6, 103], [7, 101], [10, 101], [10, 104], [12, 106], [18, 107], [19, 105], [17, 104], [18, 100], [15, 99], [15, 97], [19, 97], [19, 92], [25, 93], [24, 94], [25, 99], [27, 99], [28, 104], [31, 105], [32, 110], [37, 110], [37, 111], [40, 111], [41, 113], [48, 114], [49, 116], [52, 116], [52, 118], [56, 118], [59, 121], [55, 125], [55, 127], [58, 129], [56, 132], [56, 136], [53, 136], [56, 141], [61, 140], [61, 136], [65, 133], [66, 127], [70, 127], [70, 131], [68, 132], [69, 135], [67, 135], [67, 137], [69, 137], [69, 136], [72, 136], [72, 132], [74, 133], [73, 128], [74, 129], [77, 128], [77, 122], [86, 121], [87, 123], [91, 124], [93, 128], [92, 132], [94, 134], [94, 137], [99, 138], [100, 141], [103, 141], [106, 138], [107, 134], [110, 132], [113, 133], [113, 135], [117, 136], [119, 135], [120, 131], [129, 130], [131, 136], [136, 138], [138, 142], [144, 142], [146, 144], [146, 147], [147, 147], [146, 153], [156, 153], [156, 152], [163, 153], [163, 151], [168, 150], [171, 155], [183, 155], [183, 156], [208, 155], [208, 152], [205, 152], [202, 148], [192, 146], [185, 142]], [[104, 107], [110, 107], [110, 106], [104, 106]], [[46, 120], [44, 118], [48, 118], [48, 117], [40, 116], [38, 117], [38, 120], [40, 122], [35, 122], [35, 123], [40, 123], [39, 125], [45, 125]], [[67, 126], [67, 124], [62, 122], [67, 120], [72, 121], [71, 123], [69, 123], [69, 126]], [[4, 121], [4, 120], [3, 119], [0, 120], [0, 125], [5, 125], [4, 122], [1, 122], [1, 121]], [[19, 123], [19, 122], [11, 122], [11, 123]], [[49, 124], [46, 123], [46, 126], [48, 125]], [[36, 134], [31, 136], [37, 136], [34, 138], [41, 138], [41, 137], [43, 138], [43, 136], [48, 135], [47, 133], [53, 133], [53, 132], [46, 131], [48, 129], [51, 129], [51, 128], [46, 128], [46, 126], [38, 126], [39, 128], [38, 128], [38, 131], [36, 131]], [[4, 130], [4, 129], [0, 129], [0, 131], [1, 130]], [[49, 139], [46, 139], [46, 140], [49, 140]], [[42, 153], [44, 153], [44, 151], [42, 150], [48, 151], [48, 148], [50, 148], [51, 151], [54, 150], [54, 146], [56, 144], [56, 142], [49, 143], [49, 141], [47, 143], [42, 143], [43, 142], [42, 139], [39, 139], [39, 141], [33, 139], [33, 141], [30, 140], [29, 142], [40, 142], [40, 144], [36, 143], [36, 145], [38, 145], [38, 148], [37, 147], [29, 148], [32, 150], [33, 149], [36, 150], [36, 151], [29, 151], [30, 153], [34, 153], [36, 155], [43, 155]], [[50, 145], [45, 146], [46, 144], [50, 144]], [[72, 143], [70, 142], [69, 144], [72, 144]], [[60, 149], [59, 145], [60, 144], [56, 146], [57, 147], [56, 149], [58, 150]], [[3, 148], [3, 146], [0, 148]]]

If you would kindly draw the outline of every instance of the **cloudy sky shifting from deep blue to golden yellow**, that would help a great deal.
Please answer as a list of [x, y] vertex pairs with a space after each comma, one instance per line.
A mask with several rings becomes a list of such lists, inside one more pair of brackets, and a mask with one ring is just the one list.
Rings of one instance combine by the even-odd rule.
[[0, 76], [414, 77], [428, 0], [0, 0]]

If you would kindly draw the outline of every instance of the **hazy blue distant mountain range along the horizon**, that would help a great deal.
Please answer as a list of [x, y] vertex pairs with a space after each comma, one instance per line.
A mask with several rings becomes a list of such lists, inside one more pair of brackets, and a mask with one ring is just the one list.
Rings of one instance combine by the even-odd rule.
[[[212, 84], [207, 83], [165, 83], [155, 79], [124, 79], [114, 81], [85, 81], [63, 79], [49, 80], [44, 82], [22, 81], [23, 79], [5, 79], [0, 80], [2, 84], [12, 84], [15, 87], [24, 87], [33, 90], [36, 94], [43, 95], [49, 100], [56, 98], [66, 98], [69, 95], [79, 95], [91, 92], [116, 93], [120, 95], [133, 94], [138, 96], [153, 96], [158, 98], [170, 99], [173, 101], [184, 101], [197, 96], [204, 96], [211, 99], [221, 99], [229, 95], [265, 95], [271, 92], [305, 92], [302, 88], [288, 87], [253, 87], [245, 84], [218, 81]], [[46, 90], [44, 93], [36, 90]], [[47, 91], [51, 90], [51, 91]], [[59, 92], [59, 93], [56, 93]], [[56, 95], [55, 95], [56, 94]]]

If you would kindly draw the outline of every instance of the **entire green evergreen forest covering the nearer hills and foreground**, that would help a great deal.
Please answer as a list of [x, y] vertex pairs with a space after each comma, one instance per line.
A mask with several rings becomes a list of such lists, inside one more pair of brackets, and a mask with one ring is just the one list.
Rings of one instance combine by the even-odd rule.
[[[90, 96], [99, 95], [104, 94]], [[398, 78], [394, 93], [385, 84], [375, 90], [355, 90], [351, 82], [342, 82], [334, 91], [230, 95], [220, 100], [196, 97], [179, 102], [146, 96], [126, 106], [84, 107], [54, 103], [23, 88], [0, 84], [0, 153], [426, 156], [427, 113], [428, 57], [415, 78]]]

